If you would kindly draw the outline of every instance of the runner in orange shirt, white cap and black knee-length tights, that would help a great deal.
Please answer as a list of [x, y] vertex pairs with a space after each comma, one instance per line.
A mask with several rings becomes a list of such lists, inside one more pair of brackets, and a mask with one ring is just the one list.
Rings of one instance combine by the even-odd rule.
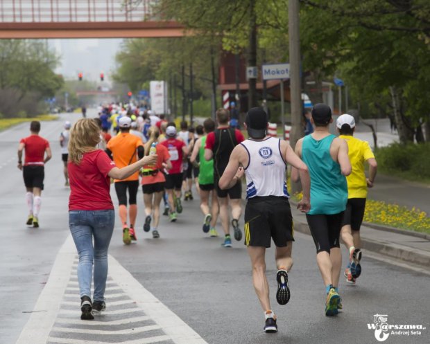
[[[123, 116], [119, 119], [120, 134], [114, 136], [107, 143], [106, 153], [111, 158], [115, 165], [123, 168], [127, 165], [135, 163], [136, 151], [139, 159], [144, 156], [144, 145], [141, 139], [130, 134], [131, 119]], [[123, 180], [115, 180], [115, 191], [119, 201], [119, 218], [123, 226], [123, 242], [130, 244], [131, 240], [137, 240], [135, 233], [135, 223], [137, 217], [137, 190], [139, 188], [139, 173], [135, 172]], [[127, 222], [127, 190], [128, 203], [130, 204], [130, 226]]]

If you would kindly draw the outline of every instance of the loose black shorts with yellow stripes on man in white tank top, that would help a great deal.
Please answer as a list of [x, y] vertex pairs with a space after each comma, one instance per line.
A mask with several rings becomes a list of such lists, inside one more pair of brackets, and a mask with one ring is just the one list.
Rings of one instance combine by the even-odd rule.
[[252, 197], [245, 208], [246, 246], [277, 247], [294, 241], [293, 217], [286, 197]]

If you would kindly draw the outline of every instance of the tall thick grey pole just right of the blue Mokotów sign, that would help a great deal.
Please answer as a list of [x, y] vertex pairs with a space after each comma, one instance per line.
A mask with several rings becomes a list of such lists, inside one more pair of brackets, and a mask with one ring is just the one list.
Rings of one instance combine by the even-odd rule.
[[[302, 138], [302, 97], [300, 94], [300, 34], [299, 0], [289, 0], [289, 55], [290, 55], [290, 95], [291, 95], [291, 133], [290, 145]], [[284, 131], [285, 129], [282, 128]], [[291, 192], [300, 190], [298, 183], [291, 182]]]

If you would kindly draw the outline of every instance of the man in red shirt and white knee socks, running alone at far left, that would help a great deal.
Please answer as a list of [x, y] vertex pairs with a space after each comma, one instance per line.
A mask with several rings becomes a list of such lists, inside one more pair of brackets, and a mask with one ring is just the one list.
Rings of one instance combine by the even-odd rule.
[[[30, 123], [31, 135], [22, 138], [18, 146], [18, 168], [22, 170], [26, 185], [26, 201], [28, 207], [27, 225], [39, 227], [39, 212], [42, 206], [42, 190], [44, 180], [44, 164], [52, 157], [49, 142], [39, 136], [40, 122]], [[24, 167], [22, 165], [22, 151], [25, 150]], [[46, 157], [45, 157], [46, 152]]]

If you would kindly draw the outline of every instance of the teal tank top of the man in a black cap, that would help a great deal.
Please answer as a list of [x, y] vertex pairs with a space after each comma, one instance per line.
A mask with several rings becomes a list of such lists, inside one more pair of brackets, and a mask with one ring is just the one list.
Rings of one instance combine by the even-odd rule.
[[330, 155], [330, 146], [336, 136], [330, 134], [320, 141], [304, 136], [302, 159], [311, 176], [311, 210], [309, 215], [333, 215], [346, 208], [348, 188], [341, 165]]

